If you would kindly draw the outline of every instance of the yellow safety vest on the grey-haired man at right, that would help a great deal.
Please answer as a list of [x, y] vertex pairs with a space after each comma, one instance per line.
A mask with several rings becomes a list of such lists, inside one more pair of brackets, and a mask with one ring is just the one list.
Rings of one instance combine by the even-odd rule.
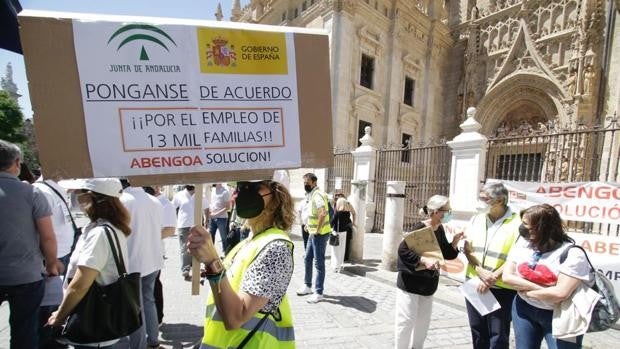
[[[521, 218], [515, 212], [510, 217], [504, 218], [502, 225], [496, 231], [493, 230], [495, 228], [491, 231], [487, 230], [486, 214], [479, 214], [473, 218], [466, 235], [472, 241], [473, 255], [484, 269], [494, 271], [506, 263], [508, 252], [519, 238], [519, 225], [521, 225]], [[476, 276], [478, 273], [475, 267], [468, 264], [465, 277], [470, 279]], [[501, 278], [497, 280], [495, 286], [513, 289]]]

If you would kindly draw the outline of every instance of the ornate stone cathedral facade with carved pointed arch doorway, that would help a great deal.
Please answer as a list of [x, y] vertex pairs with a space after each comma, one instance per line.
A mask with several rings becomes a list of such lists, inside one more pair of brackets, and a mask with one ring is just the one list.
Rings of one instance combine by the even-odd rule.
[[231, 20], [326, 30], [334, 145], [351, 147], [365, 126], [377, 144], [454, 137], [470, 106], [487, 136], [604, 121], [619, 100], [616, 3], [234, 0]]

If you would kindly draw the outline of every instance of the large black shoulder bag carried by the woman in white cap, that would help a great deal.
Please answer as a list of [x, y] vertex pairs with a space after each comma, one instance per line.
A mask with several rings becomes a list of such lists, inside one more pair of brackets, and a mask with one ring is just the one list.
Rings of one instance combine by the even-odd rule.
[[[114, 283], [105, 286], [93, 282], [84, 298], [69, 315], [62, 336], [74, 343], [118, 339], [142, 326], [140, 273], [127, 274], [118, 236], [111, 232], [109, 226], [103, 225], [103, 228], [119, 277]], [[112, 235], [116, 244], [112, 241]]]

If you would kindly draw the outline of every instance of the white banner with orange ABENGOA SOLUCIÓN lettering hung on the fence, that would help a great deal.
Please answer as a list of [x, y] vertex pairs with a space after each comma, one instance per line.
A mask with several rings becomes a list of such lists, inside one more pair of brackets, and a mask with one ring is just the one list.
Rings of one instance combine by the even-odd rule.
[[510, 192], [510, 206], [513, 209], [549, 204], [558, 210], [564, 220], [604, 224], [620, 222], [619, 183], [502, 183]]

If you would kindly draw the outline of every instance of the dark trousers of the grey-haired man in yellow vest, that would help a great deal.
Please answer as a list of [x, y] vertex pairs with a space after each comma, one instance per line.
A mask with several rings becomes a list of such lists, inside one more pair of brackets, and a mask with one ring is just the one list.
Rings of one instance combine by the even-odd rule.
[[471, 303], [466, 302], [473, 347], [476, 349], [508, 349], [513, 290], [491, 288], [501, 308], [481, 316]]

